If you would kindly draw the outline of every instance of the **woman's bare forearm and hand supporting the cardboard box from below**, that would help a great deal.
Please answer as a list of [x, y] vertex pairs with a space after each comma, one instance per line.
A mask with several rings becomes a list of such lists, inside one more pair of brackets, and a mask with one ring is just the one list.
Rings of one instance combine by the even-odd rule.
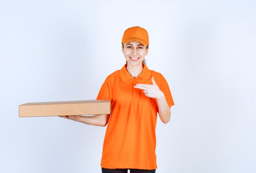
[[77, 122], [82, 122], [84, 124], [94, 125], [94, 126], [106, 126], [110, 118], [110, 114], [93, 115], [93, 116], [81, 116], [81, 115], [68, 115], [60, 116], [65, 119], [74, 120]]

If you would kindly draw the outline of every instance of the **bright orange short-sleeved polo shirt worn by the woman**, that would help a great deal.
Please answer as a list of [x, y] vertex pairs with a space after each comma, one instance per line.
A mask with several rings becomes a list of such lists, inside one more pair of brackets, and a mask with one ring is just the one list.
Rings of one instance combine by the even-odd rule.
[[126, 70], [108, 75], [97, 99], [111, 100], [111, 114], [103, 143], [101, 167], [107, 169], [156, 169], [157, 100], [149, 98], [137, 83], [152, 84], [154, 76], [164, 92], [168, 106], [174, 105], [168, 83], [162, 74], [143, 64], [143, 70], [133, 78]]

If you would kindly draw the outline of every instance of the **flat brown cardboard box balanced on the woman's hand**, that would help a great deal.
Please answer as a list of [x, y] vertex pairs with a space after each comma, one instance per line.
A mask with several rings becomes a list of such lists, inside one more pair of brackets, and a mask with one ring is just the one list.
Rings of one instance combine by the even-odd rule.
[[34, 102], [19, 105], [20, 117], [110, 114], [110, 100]]

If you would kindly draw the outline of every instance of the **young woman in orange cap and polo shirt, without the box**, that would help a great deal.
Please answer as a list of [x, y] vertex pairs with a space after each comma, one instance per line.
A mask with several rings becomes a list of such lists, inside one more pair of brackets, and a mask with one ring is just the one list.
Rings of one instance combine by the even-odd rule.
[[171, 118], [174, 105], [162, 74], [149, 70], [148, 32], [141, 27], [126, 29], [122, 52], [126, 64], [108, 75], [97, 99], [111, 100], [111, 115], [62, 116], [96, 126], [107, 126], [101, 158], [102, 173], [155, 173], [157, 112], [163, 123]]

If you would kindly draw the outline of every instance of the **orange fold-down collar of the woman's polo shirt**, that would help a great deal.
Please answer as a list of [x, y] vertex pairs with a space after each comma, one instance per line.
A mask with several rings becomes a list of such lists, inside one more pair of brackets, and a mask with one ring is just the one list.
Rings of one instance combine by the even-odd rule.
[[[142, 64], [142, 66], [143, 66], [143, 69], [142, 69], [141, 74], [139, 75], [139, 78], [150, 79], [151, 78], [151, 71], [148, 69], [146, 64]], [[124, 64], [122, 69], [119, 70], [119, 73], [120, 73], [120, 76], [121, 76], [121, 80], [123, 82], [133, 78], [132, 75], [130, 75], [130, 73], [127, 71], [126, 67], [127, 67], [127, 64]]]

